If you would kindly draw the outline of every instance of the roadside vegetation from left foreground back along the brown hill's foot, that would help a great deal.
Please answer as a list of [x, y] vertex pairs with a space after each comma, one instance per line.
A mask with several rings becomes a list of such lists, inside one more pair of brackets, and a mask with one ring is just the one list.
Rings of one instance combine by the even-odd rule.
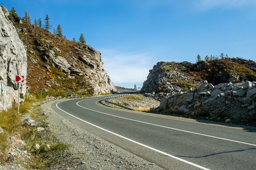
[[[80, 97], [89, 97], [92, 94], [90, 90], [77, 93]], [[28, 99], [25, 96], [25, 101], [20, 102], [19, 114], [17, 104], [0, 112], [0, 127], [3, 129], [3, 133], [0, 133], [0, 165], [15, 161], [28, 169], [45, 170], [58, 164], [63, 158], [70, 158], [70, 153], [66, 151], [70, 146], [55, 138], [48, 129], [47, 116], [40, 110], [40, 104], [47, 98], [65, 98], [68, 95], [70, 94], [61, 90], [32, 91]], [[35, 125], [25, 124], [24, 119], [27, 118], [35, 120]], [[39, 131], [39, 127], [44, 130]], [[20, 145], [19, 141], [24, 145]], [[10, 151], [15, 152], [16, 149], [21, 153], [12, 155]]]

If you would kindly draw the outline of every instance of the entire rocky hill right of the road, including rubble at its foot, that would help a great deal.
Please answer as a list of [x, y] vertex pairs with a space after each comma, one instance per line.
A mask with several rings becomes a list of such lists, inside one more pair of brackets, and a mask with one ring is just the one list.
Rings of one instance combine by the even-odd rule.
[[141, 91], [160, 100], [160, 113], [256, 125], [254, 61], [159, 62]]

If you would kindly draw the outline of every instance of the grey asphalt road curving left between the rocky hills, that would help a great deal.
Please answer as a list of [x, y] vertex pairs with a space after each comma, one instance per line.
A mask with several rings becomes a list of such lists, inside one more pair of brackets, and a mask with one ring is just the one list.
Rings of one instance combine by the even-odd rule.
[[146, 114], [100, 105], [104, 97], [52, 108], [123, 149], [177, 170], [256, 170], [256, 128]]

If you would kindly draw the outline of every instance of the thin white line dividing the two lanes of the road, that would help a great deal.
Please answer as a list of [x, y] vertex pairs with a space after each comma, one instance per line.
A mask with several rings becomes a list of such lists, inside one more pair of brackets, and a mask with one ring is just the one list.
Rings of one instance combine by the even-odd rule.
[[[84, 100], [82, 100], [82, 101], [84, 101]], [[82, 101], [79, 101], [79, 102], [82, 102]], [[123, 118], [123, 117], [120, 117], [120, 116], [111, 115], [111, 114], [108, 114], [108, 113], [99, 112], [99, 111], [97, 111], [97, 110], [93, 110], [93, 109], [89, 109], [89, 108], [83, 107], [83, 106], [81, 106], [81, 105], [78, 104], [79, 102], [77, 102], [77, 105], [78, 105], [79, 107], [82, 107], [82, 108], [84, 108], [84, 109], [91, 110], [91, 111], [94, 111], [94, 112], [102, 113], [102, 114], [105, 114], [105, 115], [109, 115], [109, 116], [121, 118], [121, 119], [127, 119], [127, 120], [137, 121], [137, 122], [139, 122], [139, 123], [150, 124], [150, 125], [154, 125], [154, 126], [158, 126], [158, 127], [162, 127], [162, 128], [167, 128], [167, 129], [173, 129], [173, 130], [177, 130], [177, 131], [181, 131], [181, 132], [187, 132], [187, 133], [191, 133], [191, 134], [196, 134], [196, 135], [201, 135], [201, 136], [207, 136], [207, 137], [213, 137], [213, 138], [222, 139], [222, 140], [227, 140], [227, 141], [231, 141], [231, 142], [236, 142], [236, 143], [242, 143], [242, 144], [246, 144], [246, 145], [256, 146], [256, 144], [252, 144], [252, 143], [246, 143], [246, 142], [241, 142], [241, 141], [226, 139], [226, 138], [222, 138], [222, 137], [217, 137], [217, 136], [210, 136], [210, 135], [205, 135], [205, 134], [199, 134], [199, 133], [196, 133], [196, 132], [185, 131], [185, 130], [176, 129], [176, 128], [171, 128], [171, 127], [167, 127], [167, 126], [161, 126], [161, 125], [158, 125], [158, 124], [148, 123], [148, 122], [139, 121], [139, 120], [135, 120], [135, 119]]]

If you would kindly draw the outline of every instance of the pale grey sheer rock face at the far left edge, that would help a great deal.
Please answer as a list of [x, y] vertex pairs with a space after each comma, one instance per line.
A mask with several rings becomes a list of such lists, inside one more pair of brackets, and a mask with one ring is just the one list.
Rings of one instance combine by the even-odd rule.
[[[8, 15], [8, 10], [0, 6], [0, 111], [8, 109], [13, 102], [18, 101], [15, 75], [27, 75], [26, 48], [5, 14]], [[21, 98], [25, 90], [25, 85], [22, 85]]]

